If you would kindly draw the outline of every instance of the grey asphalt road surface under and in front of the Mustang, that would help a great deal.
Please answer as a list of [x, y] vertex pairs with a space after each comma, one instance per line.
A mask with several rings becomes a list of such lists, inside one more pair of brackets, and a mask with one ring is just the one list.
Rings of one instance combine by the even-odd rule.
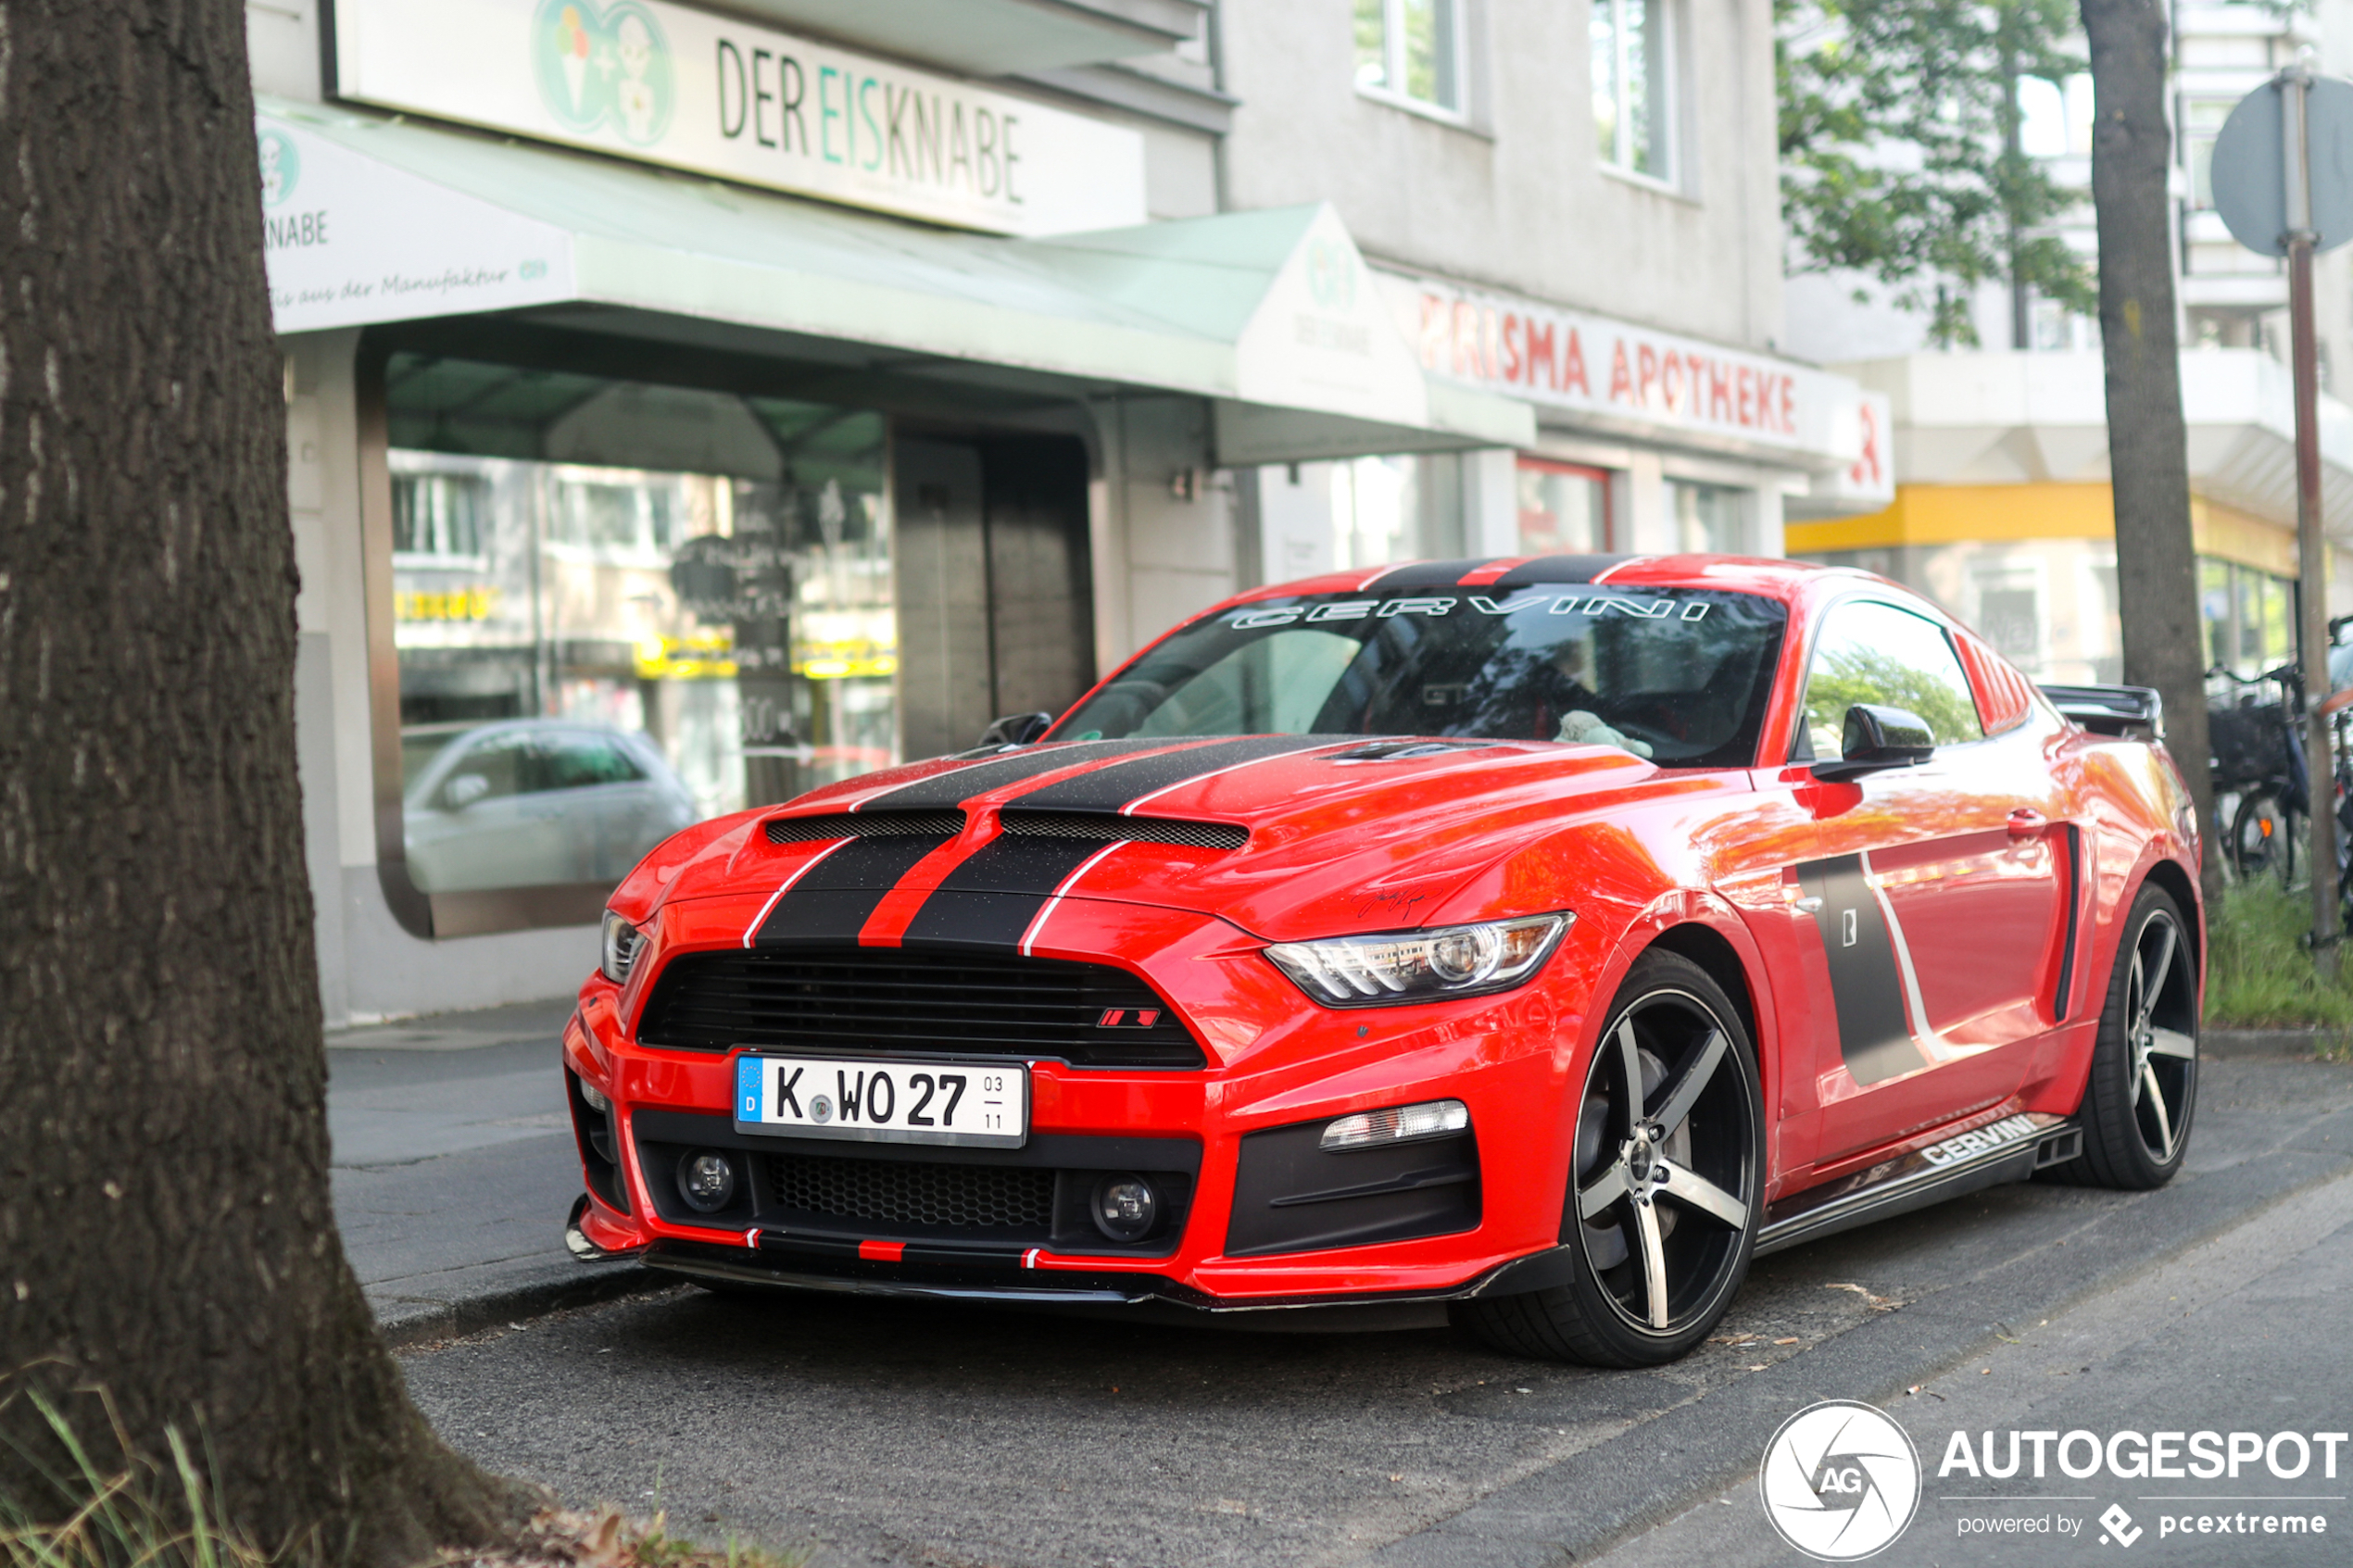
[[[1937, 1467], [1955, 1429], [2353, 1429], [2348, 1154], [2353, 1070], [2209, 1060], [2174, 1185], [2000, 1187], [1769, 1258], [1718, 1342], [1647, 1373], [1511, 1361], [1447, 1331], [694, 1288], [405, 1366], [442, 1434], [492, 1467], [819, 1563], [1795, 1563], [1753, 1479], [1819, 1399], [1889, 1408], [1927, 1465], [1918, 1516], [1875, 1561], [2097, 1559], [2118, 1502], [2129, 1561], [2341, 1563], [2353, 1450], [2334, 1481], [2315, 1462], [2235, 1488]], [[2172, 1507], [2320, 1495], [2294, 1507], [2332, 1533], [2160, 1537], [2165, 1509], [2144, 1500], [2224, 1490], [2278, 1502]], [[1960, 1535], [1962, 1516], [2005, 1512], [2049, 1514], [2052, 1535]]]

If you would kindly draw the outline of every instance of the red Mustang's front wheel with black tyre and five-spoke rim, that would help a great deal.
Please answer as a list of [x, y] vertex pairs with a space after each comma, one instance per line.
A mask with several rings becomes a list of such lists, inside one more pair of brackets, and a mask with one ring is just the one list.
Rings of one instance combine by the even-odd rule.
[[[1739, 1009], [1699, 964], [1652, 950], [1607, 1018], [1569, 1110], [1560, 1227], [1569, 1284], [1454, 1309], [1511, 1356], [1673, 1361], [1708, 1338], [1748, 1276], [1765, 1201], [1765, 1095]], [[1640, 1095], [1626, 1088], [1633, 1074]]]

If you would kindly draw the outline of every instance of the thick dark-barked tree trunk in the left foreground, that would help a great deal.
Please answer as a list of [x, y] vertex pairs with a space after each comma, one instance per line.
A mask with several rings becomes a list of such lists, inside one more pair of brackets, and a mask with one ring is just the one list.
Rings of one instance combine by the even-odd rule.
[[327, 1194], [242, 7], [0, 0], [0, 1371], [202, 1434], [266, 1544], [496, 1540]]

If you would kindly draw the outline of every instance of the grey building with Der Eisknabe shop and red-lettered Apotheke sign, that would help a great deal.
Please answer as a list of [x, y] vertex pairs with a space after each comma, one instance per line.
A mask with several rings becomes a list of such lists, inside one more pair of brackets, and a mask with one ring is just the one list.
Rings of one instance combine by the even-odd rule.
[[666, 832], [1409, 557], [1892, 494], [1781, 353], [1765, 0], [247, 7], [329, 1020]]

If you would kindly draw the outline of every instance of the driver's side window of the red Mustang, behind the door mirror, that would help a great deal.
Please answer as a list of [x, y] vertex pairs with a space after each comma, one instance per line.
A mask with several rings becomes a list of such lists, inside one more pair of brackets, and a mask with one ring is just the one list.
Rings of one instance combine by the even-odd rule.
[[1831, 609], [1814, 639], [1814, 668], [1805, 677], [1805, 710], [1798, 715], [1791, 759], [1835, 759], [1847, 708], [1857, 703], [1904, 708], [1922, 717], [1937, 745], [1986, 738], [1953, 639], [1934, 621], [1892, 604], [1849, 602]]

